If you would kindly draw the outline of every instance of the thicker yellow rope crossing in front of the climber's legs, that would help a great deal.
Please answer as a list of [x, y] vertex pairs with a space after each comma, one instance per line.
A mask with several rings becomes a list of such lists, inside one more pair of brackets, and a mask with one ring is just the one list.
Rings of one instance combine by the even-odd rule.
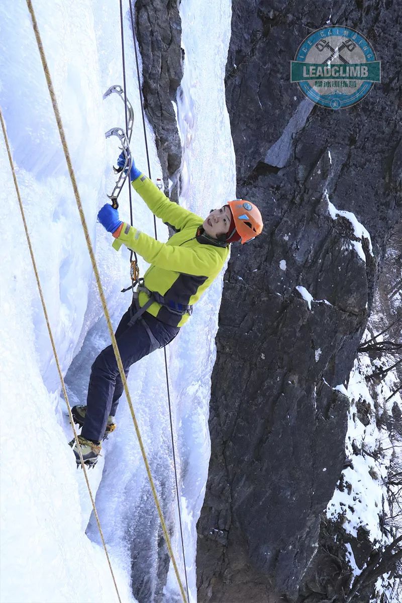
[[146, 452], [145, 452], [145, 447], [142, 442], [142, 437], [140, 434], [139, 426], [138, 426], [136, 415], [134, 412], [133, 403], [131, 402], [130, 392], [128, 391], [127, 379], [125, 378], [123, 364], [122, 364], [121, 356], [120, 356], [119, 349], [117, 346], [115, 333], [113, 332], [113, 327], [111, 326], [110, 315], [109, 315], [109, 312], [107, 309], [106, 299], [105, 299], [104, 291], [102, 288], [102, 283], [101, 283], [101, 279], [99, 276], [98, 267], [96, 265], [95, 254], [93, 253], [92, 243], [90, 241], [90, 236], [89, 236], [89, 232], [88, 232], [88, 228], [87, 228], [87, 224], [86, 224], [86, 219], [85, 219], [84, 212], [83, 212], [83, 206], [81, 204], [80, 193], [78, 192], [77, 181], [75, 180], [74, 169], [72, 168], [72, 162], [71, 162], [71, 157], [70, 157], [70, 153], [68, 150], [66, 136], [64, 134], [63, 123], [61, 121], [60, 111], [58, 110], [57, 99], [55, 96], [51, 76], [49, 73], [48, 63], [46, 61], [45, 51], [43, 50], [42, 40], [40, 38], [39, 28], [37, 26], [36, 16], [34, 13], [34, 8], [33, 8], [31, 0], [27, 0], [27, 6], [28, 6], [28, 10], [30, 11], [30, 14], [31, 14], [33, 29], [34, 29], [34, 33], [36, 36], [36, 42], [37, 42], [37, 45], [39, 48], [40, 58], [42, 60], [43, 71], [45, 72], [46, 82], [48, 84], [49, 95], [50, 95], [50, 98], [52, 101], [52, 106], [53, 106], [53, 110], [54, 110], [55, 119], [57, 122], [58, 132], [60, 134], [61, 144], [63, 145], [64, 156], [66, 157], [68, 171], [69, 171], [69, 175], [71, 178], [71, 184], [72, 184], [72, 188], [74, 189], [75, 200], [77, 201], [78, 211], [80, 212], [81, 224], [83, 226], [84, 235], [85, 235], [85, 239], [86, 239], [87, 247], [88, 247], [88, 251], [89, 251], [89, 256], [90, 256], [90, 259], [92, 262], [93, 273], [95, 274], [96, 285], [98, 286], [99, 297], [101, 298], [102, 308], [103, 308], [103, 311], [105, 314], [107, 327], [108, 327], [108, 330], [110, 333], [111, 345], [113, 346], [113, 351], [115, 352], [116, 362], [118, 364], [119, 373], [121, 376], [122, 384], [124, 386], [124, 391], [125, 391], [125, 395], [127, 397], [128, 406], [129, 406], [130, 412], [131, 412], [131, 417], [133, 418], [134, 429], [137, 434], [142, 458], [143, 458], [143, 461], [145, 464], [146, 473], [148, 475], [149, 484], [151, 485], [152, 496], [154, 497], [155, 505], [156, 505], [157, 512], [158, 512], [159, 519], [160, 519], [160, 523], [162, 525], [162, 531], [163, 531], [163, 535], [165, 536], [166, 546], [168, 548], [169, 556], [172, 560], [172, 564], [173, 564], [173, 567], [175, 570], [177, 582], [180, 587], [181, 596], [183, 597], [184, 603], [186, 603], [186, 601], [187, 601], [186, 594], [184, 593], [183, 584], [181, 583], [180, 575], [178, 573], [178, 567], [177, 567], [177, 563], [176, 563], [176, 560], [174, 557], [171, 541], [170, 541], [169, 534], [168, 534], [168, 529], [166, 528], [165, 519], [163, 517], [162, 508], [160, 507], [160, 502], [159, 502], [158, 495], [156, 492], [154, 480], [152, 478], [151, 469], [149, 467], [148, 458], [147, 458]]

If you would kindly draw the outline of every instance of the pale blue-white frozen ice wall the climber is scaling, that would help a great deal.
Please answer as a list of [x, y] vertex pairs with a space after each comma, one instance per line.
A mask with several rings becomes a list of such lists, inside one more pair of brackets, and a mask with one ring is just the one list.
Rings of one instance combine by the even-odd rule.
[[[118, 5], [111, 0], [84, 4], [36, 0], [34, 8], [102, 285], [116, 326], [130, 302], [119, 293], [130, 282], [129, 253], [111, 249], [110, 235], [96, 224], [96, 213], [113, 188], [111, 165], [119, 152], [118, 140], [105, 140], [104, 132], [124, 124], [121, 99], [113, 95], [102, 101], [111, 84], [123, 83]], [[180, 202], [203, 215], [236, 197], [224, 95], [231, 5], [222, 0], [203, 7], [194, 0], [185, 0], [180, 10], [186, 49], [177, 101], [183, 144]], [[90, 364], [108, 344], [107, 330], [24, 0], [16, 0], [12, 11], [0, 5], [0, 28], [0, 105], [61, 367], [64, 374], [69, 369], [71, 404], [83, 403]], [[136, 115], [133, 153], [139, 168], [145, 169], [127, 13], [124, 28], [127, 94]], [[148, 124], [147, 131], [152, 177], [160, 177], [154, 135]], [[90, 503], [83, 475], [75, 469], [74, 456], [67, 446], [72, 432], [60, 398], [2, 137], [0, 175], [0, 211], [7, 224], [0, 251], [1, 411], [2, 417], [8, 417], [1, 426], [0, 599], [4, 603], [109, 603], [117, 600], [116, 592], [93, 519], [85, 533]], [[152, 215], [135, 193], [133, 198], [134, 223], [153, 234]], [[119, 201], [121, 216], [128, 219], [127, 191]], [[159, 239], [166, 240], [166, 227], [159, 224], [158, 228]], [[142, 260], [140, 268], [143, 273], [146, 265]], [[193, 601], [195, 525], [210, 455], [210, 374], [215, 361], [221, 289], [222, 276], [199, 301], [192, 319], [168, 349], [184, 545]], [[129, 387], [157, 489], [173, 517], [172, 543], [183, 576], [162, 351], [136, 365]], [[146, 523], [144, 519], [152, 519], [153, 503], [149, 500], [143, 505], [146, 479], [124, 399], [116, 420], [118, 430], [105, 443], [102, 459], [90, 472], [90, 482], [97, 491], [96, 504], [122, 601], [130, 602], [134, 601], [130, 594], [130, 538], [136, 538]], [[150, 575], [154, 571], [155, 567], [150, 566]], [[177, 582], [170, 571], [165, 600], [177, 593]]]

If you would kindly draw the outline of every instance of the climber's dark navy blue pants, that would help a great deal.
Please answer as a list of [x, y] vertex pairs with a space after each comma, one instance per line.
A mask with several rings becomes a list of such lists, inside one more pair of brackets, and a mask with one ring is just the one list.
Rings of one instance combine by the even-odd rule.
[[[116, 341], [122, 359], [125, 376], [131, 364], [147, 356], [159, 347], [166, 346], [174, 339], [179, 329], [162, 323], [148, 312], [143, 318], [128, 326], [130, 308], [123, 315], [116, 330]], [[148, 335], [143, 321], [151, 329], [154, 341]], [[108, 415], [115, 416], [123, 384], [113, 347], [107, 346], [92, 365], [89, 379], [87, 412], [81, 435], [87, 440], [101, 441], [106, 429]]]

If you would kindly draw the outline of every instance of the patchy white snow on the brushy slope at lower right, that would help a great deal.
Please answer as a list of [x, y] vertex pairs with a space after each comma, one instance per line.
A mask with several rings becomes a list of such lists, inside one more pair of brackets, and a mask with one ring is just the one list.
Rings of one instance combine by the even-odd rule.
[[[365, 338], [371, 335], [367, 332]], [[378, 341], [382, 339], [379, 336]], [[390, 406], [374, 406], [365, 377], [372, 373], [376, 362], [368, 356], [360, 355], [355, 361], [350, 374], [348, 388], [338, 385], [334, 388], [341, 391], [350, 399], [348, 411], [348, 428], [345, 438], [345, 449], [350, 466], [346, 467], [339, 480], [333, 497], [327, 505], [327, 517], [342, 521], [342, 526], [351, 537], [358, 536], [358, 530], [363, 529], [373, 548], [381, 549], [392, 540], [392, 535], [382, 528], [383, 517], [389, 516], [388, 492], [386, 490], [387, 473], [391, 462], [392, 443], [386, 428], [377, 428], [377, 417], [382, 412], [391, 412], [391, 406], [397, 403], [400, 407], [400, 394], [392, 397]], [[377, 388], [377, 403], [379, 400], [391, 398], [392, 391], [397, 387], [397, 376], [390, 371]], [[390, 534], [390, 535], [389, 535]], [[365, 569], [365, 564], [359, 569], [354, 558], [352, 546], [345, 543], [345, 553], [350, 565], [351, 581]], [[395, 579], [389, 575], [380, 576], [376, 582], [376, 592], [371, 603], [382, 600], [382, 595], [388, 596], [389, 601], [396, 601]]]

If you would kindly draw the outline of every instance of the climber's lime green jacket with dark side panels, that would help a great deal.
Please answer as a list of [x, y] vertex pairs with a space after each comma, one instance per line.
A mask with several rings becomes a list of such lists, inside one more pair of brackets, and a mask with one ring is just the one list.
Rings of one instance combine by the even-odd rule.
[[[165, 301], [175, 304], [195, 304], [221, 272], [229, 246], [204, 235], [203, 229], [199, 230], [203, 218], [169, 201], [143, 174], [132, 184], [151, 212], [178, 232], [162, 243], [124, 223], [113, 247], [119, 249], [124, 244], [151, 264], [144, 275], [144, 285], [149, 291], [155, 291], [163, 295]], [[139, 305], [143, 306], [148, 298], [145, 292], [140, 292]], [[178, 315], [157, 301], [147, 312], [178, 327], [189, 318], [188, 313]]]

